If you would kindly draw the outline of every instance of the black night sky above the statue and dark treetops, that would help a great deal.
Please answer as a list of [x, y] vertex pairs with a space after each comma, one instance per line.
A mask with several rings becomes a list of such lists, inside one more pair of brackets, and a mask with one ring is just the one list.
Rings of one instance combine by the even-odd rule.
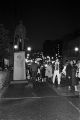
[[33, 48], [42, 48], [44, 40], [56, 40], [80, 28], [79, 3], [4, 2], [0, 4], [0, 24], [14, 32], [22, 20]]

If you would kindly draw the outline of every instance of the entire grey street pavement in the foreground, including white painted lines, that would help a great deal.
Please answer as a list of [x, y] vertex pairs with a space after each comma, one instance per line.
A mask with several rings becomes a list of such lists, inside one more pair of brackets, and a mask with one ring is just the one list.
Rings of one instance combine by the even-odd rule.
[[79, 96], [63, 96], [47, 83], [11, 84], [0, 100], [0, 120], [80, 120]]

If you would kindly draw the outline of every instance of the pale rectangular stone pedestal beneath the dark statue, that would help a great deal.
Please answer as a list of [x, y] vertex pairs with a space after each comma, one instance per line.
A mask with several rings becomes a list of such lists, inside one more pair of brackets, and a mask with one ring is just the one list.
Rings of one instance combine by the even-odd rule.
[[25, 80], [26, 70], [25, 70], [25, 52], [15, 52], [14, 53], [14, 74], [13, 80]]

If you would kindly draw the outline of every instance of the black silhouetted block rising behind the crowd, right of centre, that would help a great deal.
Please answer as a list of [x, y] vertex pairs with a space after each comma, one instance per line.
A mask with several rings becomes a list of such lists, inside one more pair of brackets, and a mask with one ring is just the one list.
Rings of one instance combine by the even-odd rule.
[[63, 52], [63, 41], [62, 40], [46, 40], [43, 44], [44, 55], [58, 56], [62, 55]]

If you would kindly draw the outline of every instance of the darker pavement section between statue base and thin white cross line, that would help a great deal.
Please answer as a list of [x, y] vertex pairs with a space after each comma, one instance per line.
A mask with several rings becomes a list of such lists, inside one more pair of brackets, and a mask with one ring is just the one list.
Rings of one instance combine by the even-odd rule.
[[31, 83], [15, 83], [9, 85], [9, 87], [3, 92], [2, 98], [23, 99], [26, 97], [45, 97], [56, 94], [57, 93], [53, 91], [47, 83], [38, 83], [35, 88]]

